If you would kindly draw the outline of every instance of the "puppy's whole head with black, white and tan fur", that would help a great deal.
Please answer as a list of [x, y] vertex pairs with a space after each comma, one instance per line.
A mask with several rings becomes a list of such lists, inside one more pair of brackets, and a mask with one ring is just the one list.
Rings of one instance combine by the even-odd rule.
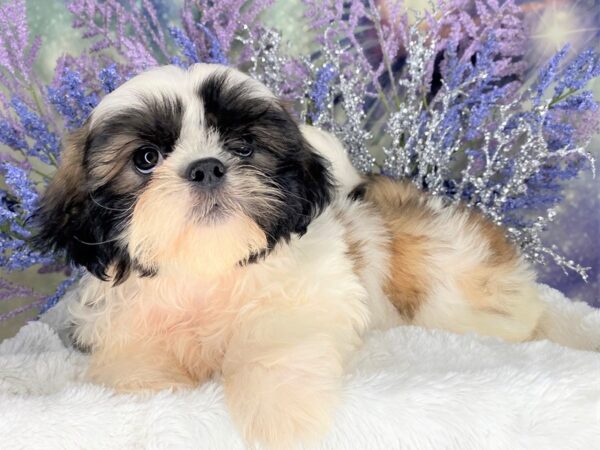
[[325, 161], [260, 83], [162, 67], [105, 97], [71, 137], [37, 242], [94, 275], [218, 275], [303, 233], [329, 201]]

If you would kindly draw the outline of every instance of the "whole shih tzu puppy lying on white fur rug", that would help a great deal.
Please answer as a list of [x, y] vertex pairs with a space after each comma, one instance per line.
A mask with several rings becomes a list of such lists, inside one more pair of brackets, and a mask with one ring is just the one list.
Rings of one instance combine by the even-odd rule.
[[248, 442], [328, 429], [365, 333], [529, 339], [534, 274], [501, 229], [409, 183], [361, 178], [331, 135], [217, 65], [143, 73], [65, 146], [38, 243], [87, 268], [70, 305], [89, 379], [221, 377]]

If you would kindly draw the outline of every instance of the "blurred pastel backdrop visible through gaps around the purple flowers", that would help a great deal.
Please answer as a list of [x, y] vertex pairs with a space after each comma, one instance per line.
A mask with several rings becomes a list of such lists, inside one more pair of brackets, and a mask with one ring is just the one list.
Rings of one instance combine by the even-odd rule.
[[[2, 0], [0, 0], [1, 2]], [[218, 1], [218, 0], [215, 0]], [[174, 21], [181, 1], [154, 1], [160, 6], [165, 22]], [[528, 15], [531, 29], [528, 57], [537, 65], [570, 42], [583, 49], [600, 45], [600, 0], [539, 0], [518, 1]], [[415, 10], [426, 8], [428, 2], [409, 0]], [[42, 37], [43, 43], [35, 70], [50, 80], [58, 57], [64, 53], [77, 54], [83, 48], [79, 31], [71, 28], [72, 16], [62, 0], [27, 0], [28, 22], [32, 34]], [[303, 6], [298, 0], [279, 0], [263, 13], [263, 21], [282, 30], [292, 51], [304, 51], [313, 42], [311, 30], [302, 20]], [[600, 97], [600, 83], [593, 90]], [[600, 138], [596, 136], [592, 153], [600, 159]], [[0, 147], [0, 152], [7, 149]], [[377, 151], [377, 149], [374, 149]], [[600, 168], [597, 168], [597, 171]], [[573, 299], [584, 300], [600, 307], [600, 179], [585, 172], [570, 182], [566, 199], [560, 206], [555, 223], [547, 230], [547, 240], [559, 245], [563, 253], [590, 268], [590, 278], [584, 282], [574, 273], [565, 274], [554, 265], [538, 267], [540, 280], [562, 290]], [[50, 294], [60, 276], [41, 277], [34, 271], [12, 273], [3, 277], [34, 286]], [[18, 300], [19, 302], [27, 299]], [[16, 300], [0, 303], [0, 313], [18, 306]], [[0, 338], [14, 334], [23, 323], [34, 318], [28, 311], [0, 323]]]

